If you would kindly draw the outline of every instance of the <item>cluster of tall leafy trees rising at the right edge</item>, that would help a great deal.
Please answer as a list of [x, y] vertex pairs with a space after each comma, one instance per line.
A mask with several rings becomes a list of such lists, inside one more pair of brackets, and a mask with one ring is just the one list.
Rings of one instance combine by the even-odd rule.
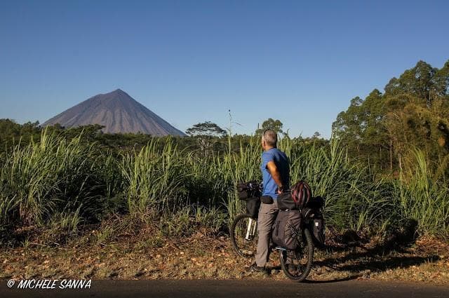
[[[393, 170], [406, 166], [410, 149], [422, 149], [439, 163], [449, 154], [449, 61], [441, 69], [419, 61], [384, 90], [355, 97], [337, 115], [333, 133], [349, 156]], [[446, 158], [447, 159], [447, 158]]]

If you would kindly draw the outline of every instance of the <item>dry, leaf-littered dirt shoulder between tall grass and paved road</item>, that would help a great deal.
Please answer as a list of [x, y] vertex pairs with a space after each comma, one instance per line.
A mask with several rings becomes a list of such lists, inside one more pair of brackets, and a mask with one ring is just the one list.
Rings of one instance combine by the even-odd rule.
[[[338, 238], [329, 238], [325, 251], [316, 250], [309, 280], [449, 285], [447, 242], [422, 237], [408, 245], [396, 245]], [[85, 242], [80, 239], [53, 247], [31, 242], [25, 247], [3, 248], [0, 278], [286, 279], [275, 253], [269, 262], [269, 275], [249, 273], [252, 260], [236, 257], [227, 236], [197, 232], [175, 240], [142, 231], [105, 242]]]

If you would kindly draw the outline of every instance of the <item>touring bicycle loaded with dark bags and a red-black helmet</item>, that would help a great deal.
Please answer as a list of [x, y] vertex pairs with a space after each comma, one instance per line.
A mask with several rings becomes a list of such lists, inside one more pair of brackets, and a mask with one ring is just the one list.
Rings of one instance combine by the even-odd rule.
[[[255, 256], [257, 248], [257, 215], [261, 187], [257, 182], [241, 183], [239, 198], [246, 201], [246, 213], [237, 215], [230, 233], [232, 246], [240, 257]], [[311, 196], [309, 185], [300, 181], [291, 190], [279, 194], [279, 212], [272, 226], [271, 249], [276, 250], [283, 273], [297, 282], [307, 278], [314, 259], [314, 247], [324, 245], [324, 200]]]

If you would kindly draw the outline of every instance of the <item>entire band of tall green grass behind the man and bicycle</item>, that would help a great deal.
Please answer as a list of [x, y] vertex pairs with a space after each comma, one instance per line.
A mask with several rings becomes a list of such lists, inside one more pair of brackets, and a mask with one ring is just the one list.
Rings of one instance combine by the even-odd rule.
[[[379, 178], [349, 161], [337, 140], [327, 146], [283, 138], [290, 183], [304, 179], [326, 198], [328, 225], [373, 233], [415, 219], [421, 233], [449, 237], [448, 184], [415, 152], [416, 168], [398, 180]], [[199, 225], [214, 231], [243, 212], [238, 182], [261, 180], [260, 140], [224, 153], [180, 150], [170, 139], [152, 139], [139, 150], [112, 154], [83, 135], [66, 140], [46, 130], [40, 142], [0, 156], [0, 225], [76, 231], [112, 212], [158, 221], [170, 235]]]

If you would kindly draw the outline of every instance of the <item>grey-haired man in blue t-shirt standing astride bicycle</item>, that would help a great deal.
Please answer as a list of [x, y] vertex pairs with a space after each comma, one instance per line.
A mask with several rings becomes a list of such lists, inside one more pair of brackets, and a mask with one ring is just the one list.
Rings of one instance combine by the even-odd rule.
[[262, 196], [271, 196], [272, 203], [261, 203], [259, 217], [257, 218], [257, 252], [255, 263], [251, 265], [251, 271], [265, 271], [265, 264], [269, 259], [269, 242], [272, 233], [272, 225], [279, 211], [277, 196], [284, 189], [290, 189], [290, 170], [288, 158], [281, 150], [277, 149], [278, 137], [274, 130], [265, 130], [262, 135]]

